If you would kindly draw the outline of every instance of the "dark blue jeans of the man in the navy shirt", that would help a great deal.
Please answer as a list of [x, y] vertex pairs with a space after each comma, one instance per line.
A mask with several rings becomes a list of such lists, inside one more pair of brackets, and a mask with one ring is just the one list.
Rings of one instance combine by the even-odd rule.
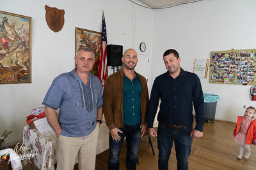
[[193, 126], [184, 129], [174, 130], [159, 123], [157, 129], [157, 147], [159, 150], [158, 169], [168, 169], [173, 141], [175, 143], [177, 169], [188, 169], [188, 156], [191, 152], [193, 138], [190, 133]]

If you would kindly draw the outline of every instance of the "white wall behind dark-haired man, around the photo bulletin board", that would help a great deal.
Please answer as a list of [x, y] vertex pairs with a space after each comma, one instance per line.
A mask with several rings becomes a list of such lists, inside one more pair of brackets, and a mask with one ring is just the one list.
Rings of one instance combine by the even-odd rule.
[[[151, 83], [166, 71], [163, 53], [173, 48], [180, 54], [180, 66], [193, 72], [195, 59], [210, 59], [210, 52], [256, 48], [255, 0], [214, 0], [154, 10]], [[216, 119], [236, 122], [243, 106], [256, 106], [250, 87], [221, 85], [200, 79], [204, 93], [218, 94]]]

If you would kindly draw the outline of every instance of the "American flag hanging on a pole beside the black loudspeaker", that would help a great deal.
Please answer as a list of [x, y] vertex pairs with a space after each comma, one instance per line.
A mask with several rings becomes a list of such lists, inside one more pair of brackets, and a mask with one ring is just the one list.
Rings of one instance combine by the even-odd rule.
[[102, 11], [102, 32], [101, 32], [101, 45], [100, 45], [100, 61], [98, 69], [98, 78], [101, 81], [102, 85], [107, 78], [107, 29], [105, 23], [104, 12]]

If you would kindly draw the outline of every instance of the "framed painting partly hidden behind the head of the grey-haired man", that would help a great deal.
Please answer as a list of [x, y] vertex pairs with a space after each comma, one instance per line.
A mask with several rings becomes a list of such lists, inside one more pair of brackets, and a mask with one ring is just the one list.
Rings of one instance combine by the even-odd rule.
[[[92, 68], [91, 73], [95, 76], [98, 76], [98, 67], [100, 59], [100, 41], [101, 41], [101, 32], [90, 31], [88, 29], [81, 29], [76, 27], [76, 50], [83, 46], [92, 48], [95, 53], [95, 62]], [[75, 53], [76, 56], [76, 53]]]

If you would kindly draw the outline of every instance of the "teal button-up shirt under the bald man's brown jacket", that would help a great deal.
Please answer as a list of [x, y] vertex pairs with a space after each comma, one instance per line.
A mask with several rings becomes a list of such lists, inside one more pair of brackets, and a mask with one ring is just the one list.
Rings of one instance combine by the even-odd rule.
[[142, 85], [137, 73], [131, 81], [124, 74], [124, 124], [136, 125], [141, 122], [140, 94]]

